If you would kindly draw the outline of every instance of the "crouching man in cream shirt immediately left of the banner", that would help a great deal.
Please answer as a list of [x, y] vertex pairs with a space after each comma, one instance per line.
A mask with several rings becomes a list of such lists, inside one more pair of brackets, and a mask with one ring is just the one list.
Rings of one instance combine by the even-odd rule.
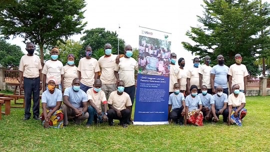
[[131, 111], [131, 99], [129, 95], [123, 91], [124, 82], [119, 81], [117, 90], [112, 91], [108, 98], [108, 124], [113, 125], [113, 119], [119, 119], [122, 127], [127, 127], [126, 121], [129, 118]]

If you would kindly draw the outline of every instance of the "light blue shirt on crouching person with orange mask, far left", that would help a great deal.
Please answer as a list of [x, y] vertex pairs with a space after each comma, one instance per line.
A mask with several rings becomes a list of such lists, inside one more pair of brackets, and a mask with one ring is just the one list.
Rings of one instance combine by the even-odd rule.
[[46, 89], [41, 95], [41, 103], [47, 103], [47, 108], [56, 106], [56, 102], [62, 100], [62, 91], [58, 88], [55, 88], [52, 94]]

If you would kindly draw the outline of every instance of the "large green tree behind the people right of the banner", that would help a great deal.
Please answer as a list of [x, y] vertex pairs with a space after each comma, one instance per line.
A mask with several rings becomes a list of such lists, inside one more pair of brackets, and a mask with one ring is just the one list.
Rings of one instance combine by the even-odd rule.
[[[191, 27], [186, 35], [195, 42], [182, 42], [183, 47], [202, 58], [209, 55], [216, 64], [216, 56], [222, 54], [225, 64], [234, 63], [234, 55], [240, 53], [242, 63], [249, 74], [257, 75], [255, 54], [261, 54], [262, 46], [269, 42], [269, 4], [259, 0], [203, 0], [203, 16], [197, 16], [201, 26]], [[260, 31], [264, 34], [260, 35]]]

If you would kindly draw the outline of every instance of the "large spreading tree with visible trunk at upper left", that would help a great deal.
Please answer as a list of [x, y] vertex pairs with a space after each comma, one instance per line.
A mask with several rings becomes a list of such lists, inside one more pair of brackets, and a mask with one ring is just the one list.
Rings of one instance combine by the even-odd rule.
[[43, 63], [44, 45], [55, 45], [83, 30], [85, 5], [85, 0], [9, 0], [0, 4], [0, 33], [38, 44]]

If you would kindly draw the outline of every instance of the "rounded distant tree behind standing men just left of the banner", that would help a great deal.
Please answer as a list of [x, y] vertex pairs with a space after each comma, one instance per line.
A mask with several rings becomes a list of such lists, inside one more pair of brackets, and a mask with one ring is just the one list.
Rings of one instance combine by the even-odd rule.
[[[83, 41], [83, 50], [81, 54], [84, 55], [84, 48], [86, 45], [90, 45], [92, 50], [95, 51], [99, 48], [104, 48], [106, 43], [110, 43], [112, 48], [118, 48], [118, 34], [116, 31], [105, 30], [105, 28], [93, 28], [90, 30], [85, 30], [80, 40]], [[119, 54], [123, 54], [124, 40], [119, 39]]]

